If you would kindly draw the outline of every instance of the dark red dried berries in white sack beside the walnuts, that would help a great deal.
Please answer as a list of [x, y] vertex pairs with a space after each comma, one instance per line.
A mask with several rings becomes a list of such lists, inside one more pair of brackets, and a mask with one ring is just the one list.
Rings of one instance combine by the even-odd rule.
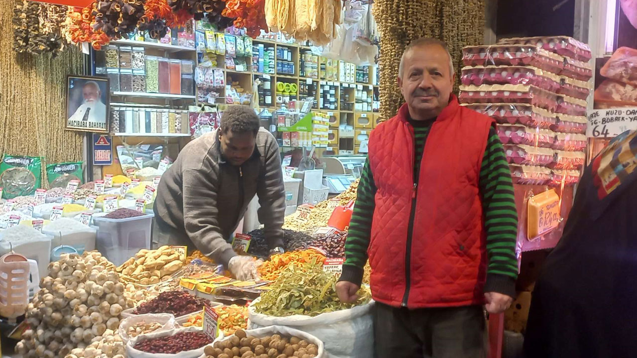
[[182, 332], [174, 336], [157, 337], [137, 343], [134, 348], [152, 354], [178, 354], [212, 343], [203, 332]]

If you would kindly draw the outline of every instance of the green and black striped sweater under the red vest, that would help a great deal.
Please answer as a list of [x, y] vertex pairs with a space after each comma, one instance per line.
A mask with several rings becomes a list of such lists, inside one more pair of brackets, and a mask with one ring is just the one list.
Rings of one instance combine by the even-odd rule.
[[[415, 136], [414, 180], [418, 180], [420, 159], [425, 147], [427, 134], [433, 120], [410, 120]], [[487, 148], [482, 159], [479, 179], [482, 206], [487, 232], [487, 282], [484, 292], [499, 292], [515, 297], [517, 259], [517, 210], [513, 183], [506, 154], [495, 129], [490, 129]], [[365, 162], [359, 182], [354, 213], [345, 242], [345, 263], [340, 280], [361, 284], [363, 268], [367, 262], [367, 249], [371, 235], [371, 220], [375, 208], [376, 185]]]

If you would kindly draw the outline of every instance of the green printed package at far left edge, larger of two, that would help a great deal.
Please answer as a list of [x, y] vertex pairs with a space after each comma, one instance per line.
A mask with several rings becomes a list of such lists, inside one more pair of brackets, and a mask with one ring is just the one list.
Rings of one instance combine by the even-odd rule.
[[0, 163], [0, 186], [4, 199], [29, 196], [36, 192], [42, 180], [42, 159], [20, 155], [3, 156]]

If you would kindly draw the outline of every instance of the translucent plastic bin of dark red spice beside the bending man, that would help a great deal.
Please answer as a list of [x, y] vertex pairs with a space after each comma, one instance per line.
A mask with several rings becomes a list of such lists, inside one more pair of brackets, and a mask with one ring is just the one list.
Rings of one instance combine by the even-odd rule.
[[97, 250], [120, 266], [142, 248], [150, 249], [154, 215], [132, 218], [93, 218], [97, 229]]

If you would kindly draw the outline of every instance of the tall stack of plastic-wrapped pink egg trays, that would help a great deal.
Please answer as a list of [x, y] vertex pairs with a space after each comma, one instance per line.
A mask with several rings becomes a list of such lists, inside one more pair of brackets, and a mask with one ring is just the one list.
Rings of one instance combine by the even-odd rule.
[[496, 120], [514, 183], [579, 180], [590, 57], [588, 45], [566, 36], [463, 48], [459, 101]]

